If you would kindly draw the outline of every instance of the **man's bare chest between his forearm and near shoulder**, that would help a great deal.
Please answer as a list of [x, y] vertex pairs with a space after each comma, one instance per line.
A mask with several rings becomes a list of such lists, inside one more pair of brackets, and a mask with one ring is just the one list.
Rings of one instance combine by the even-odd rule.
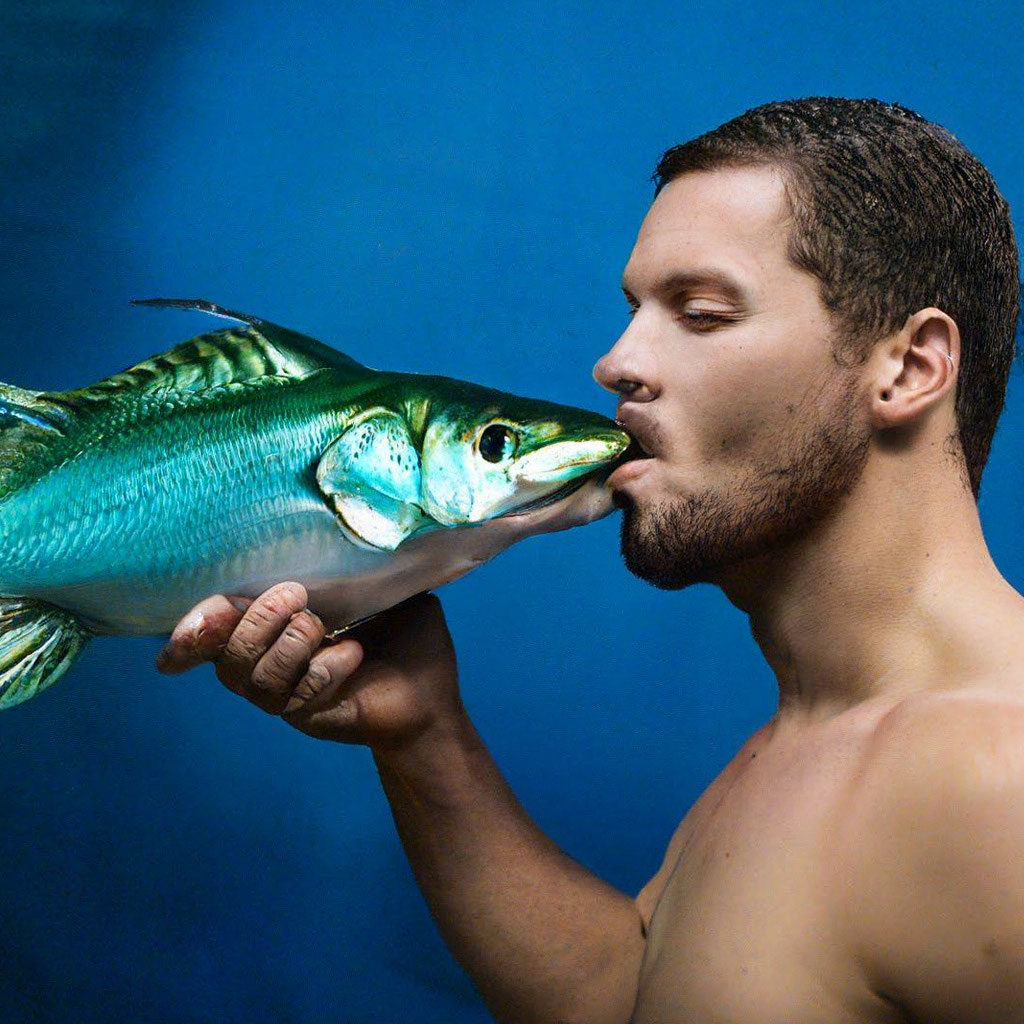
[[834, 869], [851, 743], [752, 740], [674, 840], [648, 927], [635, 1024], [897, 1021], [844, 934]]

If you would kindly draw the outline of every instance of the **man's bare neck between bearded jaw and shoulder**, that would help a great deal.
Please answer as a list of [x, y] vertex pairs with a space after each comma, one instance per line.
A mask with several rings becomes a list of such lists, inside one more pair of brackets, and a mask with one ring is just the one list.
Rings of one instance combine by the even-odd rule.
[[913, 485], [886, 466], [810, 534], [719, 583], [750, 615], [779, 717], [793, 719], [991, 672], [1024, 605], [955, 474]]

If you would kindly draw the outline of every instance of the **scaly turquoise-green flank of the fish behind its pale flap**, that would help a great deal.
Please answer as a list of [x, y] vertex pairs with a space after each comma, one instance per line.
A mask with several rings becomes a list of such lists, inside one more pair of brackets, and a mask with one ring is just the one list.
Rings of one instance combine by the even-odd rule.
[[[267, 378], [258, 394], [231, 385], [117, 399], [78, 451], [0, 507], [0, 522], [23, 525], [22, 538], [4, 529], [0, 592], [63, 595], [98, 629], [152, 633], [173, 626], [182, 601], [244, 584], [268, 561], [306, 573], [359, 561], [311, 475], [350, 415], [322, 376]], [[197, 434], [201, 449], [186, 443]]]

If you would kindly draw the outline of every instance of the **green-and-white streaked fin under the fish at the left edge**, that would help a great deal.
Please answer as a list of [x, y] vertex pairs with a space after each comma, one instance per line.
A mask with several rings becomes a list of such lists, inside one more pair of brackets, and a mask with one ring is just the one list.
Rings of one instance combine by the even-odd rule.
[[52, 686], [91, 636], [70, 611], [0, 597], [0, 711]]

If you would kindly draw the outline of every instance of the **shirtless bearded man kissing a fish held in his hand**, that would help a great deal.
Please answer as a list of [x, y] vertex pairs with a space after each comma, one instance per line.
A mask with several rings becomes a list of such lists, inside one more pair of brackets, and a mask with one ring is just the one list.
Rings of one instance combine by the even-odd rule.
[[164, 667], [213, 659], [373, 749], [500, 1020], [1024, 1021], [1024, 601], [976, 505], [1017, 318], [1007, 205], [948, 133], [869, 100], [749, 112], [656, 180], [595, 369], [650, 456], [609, 479], [623, 551], [720, 586], [779, 703], [636, 900], [517, 804], [432, 597], [325, 648], [297, 586], [213, 598]]

